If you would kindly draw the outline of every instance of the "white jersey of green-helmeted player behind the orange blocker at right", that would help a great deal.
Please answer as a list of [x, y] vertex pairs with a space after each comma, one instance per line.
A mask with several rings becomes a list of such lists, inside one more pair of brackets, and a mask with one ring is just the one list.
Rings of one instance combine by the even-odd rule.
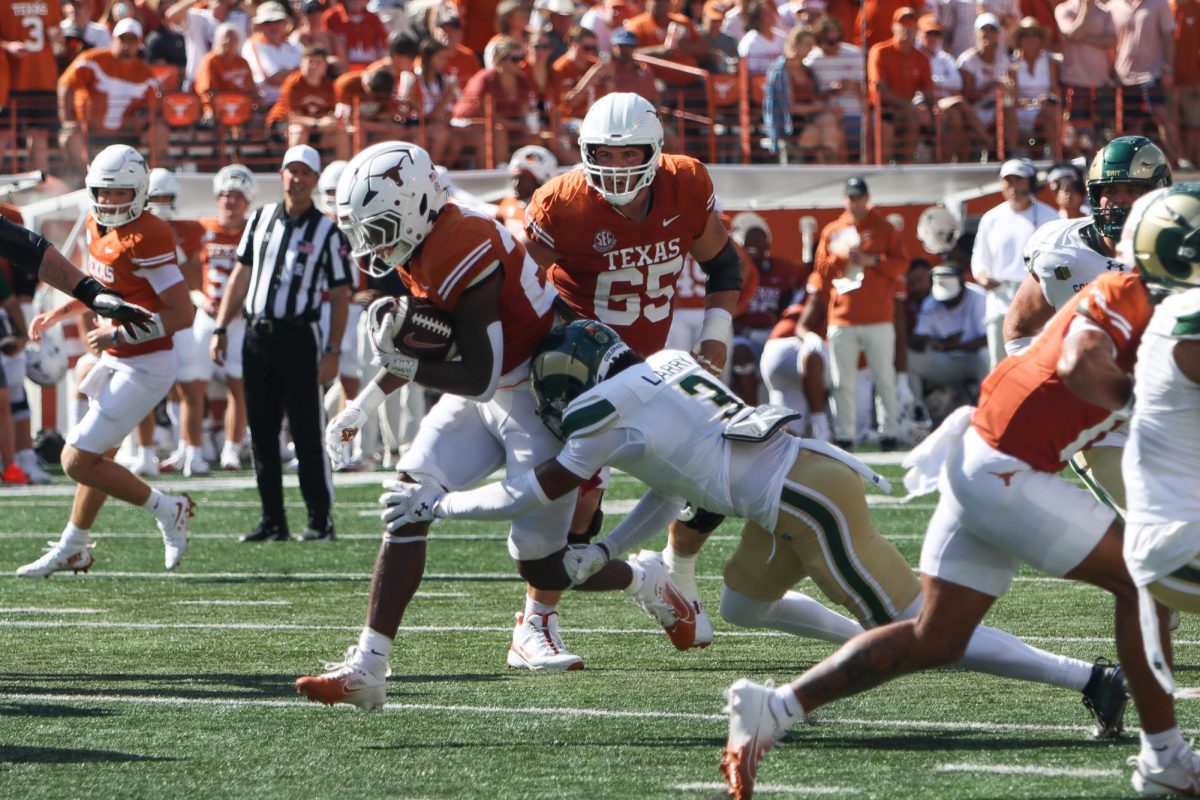
[[1130, 269], [1087, 243], [1086, 231], [1091, 225], [1091, 217], [1055, 219], [1033, 231], [1025, 243], [1025, 269], [1037, 277], [1042, 296], [1055, 308], [1062, 308], [1097, 276]]

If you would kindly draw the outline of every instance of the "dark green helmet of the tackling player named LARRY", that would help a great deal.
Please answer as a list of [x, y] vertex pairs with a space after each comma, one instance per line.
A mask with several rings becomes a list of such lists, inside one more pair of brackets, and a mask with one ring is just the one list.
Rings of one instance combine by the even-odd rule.
[[563, 414], [576, 397], [608, 377], [617, 356], [631, 353], [617, 331], [577, 319], [546, 336], [534, 356], [529, 387], [542, 423], [563, 438]]

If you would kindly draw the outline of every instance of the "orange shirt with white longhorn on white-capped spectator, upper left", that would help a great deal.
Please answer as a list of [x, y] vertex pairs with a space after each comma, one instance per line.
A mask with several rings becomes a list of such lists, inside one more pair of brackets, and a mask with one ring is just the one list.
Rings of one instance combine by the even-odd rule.
[[74, 91], [76, 115], [102, 131], [132, 130], [132, 116], [149, 112], [158, 83], [142, 59], [118, 59], [110, 50], [84, 50], [59, 78]]

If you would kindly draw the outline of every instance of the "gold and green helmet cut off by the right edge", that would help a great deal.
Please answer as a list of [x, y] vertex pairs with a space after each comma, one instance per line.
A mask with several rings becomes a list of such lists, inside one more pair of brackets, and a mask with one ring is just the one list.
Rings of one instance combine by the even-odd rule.
[[1200, 287], [1200, 184], [1180, 184], [1135, 203], [1126, 239], [1147, 284], [1169, 291]]

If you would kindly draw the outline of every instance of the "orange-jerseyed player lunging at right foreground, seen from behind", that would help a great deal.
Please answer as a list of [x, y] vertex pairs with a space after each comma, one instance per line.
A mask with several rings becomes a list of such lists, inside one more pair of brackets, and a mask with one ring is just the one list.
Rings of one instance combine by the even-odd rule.
[[[1164, 230], [1139, 251], [1177, 247], [1180, 233]], [[1060, 476], [1075, 451], [1128, 419], [1150, 300], [1139, 276], [1104, 272], [1063, 303], [1030, 349], [992, 371], [977, 409], [953, 414], [910, 456], [910, 489], [940, 491], [922, 547], [917, 618], [851, 639], [778, 690], [736, 681], [727, 691], [721, 759], [736, 798], [751, 796], [763, 754], [806, 714], [960, 658], [1022, 563], [1114, 595], [1117, 654], [1141, 720], [1133, 784], [1144, 794], [1200, 792], [1200, 757], [1183, 740], [1171, 697], [1144, 652], [1139, 593], [1122, 558], [1123, 524]], [[1146, 612], [1165, 634], [1165, 609]]]

